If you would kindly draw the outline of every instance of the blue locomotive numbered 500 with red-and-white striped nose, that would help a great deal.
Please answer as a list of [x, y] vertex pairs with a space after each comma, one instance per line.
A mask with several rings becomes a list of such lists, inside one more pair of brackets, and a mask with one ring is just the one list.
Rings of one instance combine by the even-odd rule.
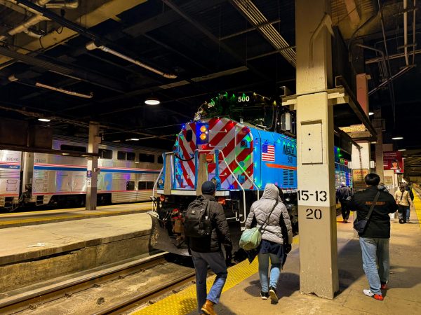
[[203, 181], [215, 183], [234, 251], [250, 206], [267, 183], [283, 190], [298, 228], [295, 113], [279, 101], [254, 92], [226, 92], [203, 103], [194, 120], [182, 126], [173, 151], [163, 154], [159, 197], [152, 197], [154, 248], [188, 255], [183, 212], [200, 195]]

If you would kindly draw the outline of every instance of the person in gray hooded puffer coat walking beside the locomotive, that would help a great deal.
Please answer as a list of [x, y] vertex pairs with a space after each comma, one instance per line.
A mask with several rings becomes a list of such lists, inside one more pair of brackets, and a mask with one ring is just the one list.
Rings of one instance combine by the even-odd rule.
[[[274, 208], [276, 201], [278, 201], [278, 204]], [[272, 209], [274, 210], [272, 211]], [[271, 211], [272, 214], [270, 214]], [[283, 221], [281, 221], [281, 216]], [[285, 223], [283, 230], [286, 230], [288, 236], [282, 235], [283, 222]], [[288, 216], [288, 210], [285, 204], [283, 204], [276, 185], [268, 183], [260, 200], [253, 202], [251, 205], [246, 221], [246, 228], [252, 228], [253, 223], [255, 223], [257, 228], [263, 225], [261, 231], [262, 243], [258, 248], [259, 277], [262, 286], [260, 296], [263, 300], [267, 300], [270, 296], [272, 301], [277, 302], [276, 284], [281, 273], [281, 263], [283, 262], [284, 255], [286, 255], [283, 246], [284, 239], [288, 239], [288, 244], [293, 243], [293, 229]], [[269, 258], [271, 262], [270, 283], [268, 275]]]

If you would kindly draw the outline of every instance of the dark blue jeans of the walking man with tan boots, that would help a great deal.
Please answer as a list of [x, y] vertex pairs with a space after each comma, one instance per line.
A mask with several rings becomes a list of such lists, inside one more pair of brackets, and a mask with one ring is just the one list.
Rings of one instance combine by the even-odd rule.
[[[206, 299], [218, 304], [222, 288], [224, 288], [225, 281], [227, 281], [227, 265], [225, 265], [225, 258], [222, 251], [216, 251], [213, 253], [199, 253], [197, 251], [192, 251], [192, 258], [194, 269], [196, 269], [197, 309], [199, 314], [201, 314], [201, 307], [205, 304]], [[206, 296], [206, 276], [208, 274], [208, 265], [216, 274], [216, 278], [215, 281], [213, 281], [209, 294]]]

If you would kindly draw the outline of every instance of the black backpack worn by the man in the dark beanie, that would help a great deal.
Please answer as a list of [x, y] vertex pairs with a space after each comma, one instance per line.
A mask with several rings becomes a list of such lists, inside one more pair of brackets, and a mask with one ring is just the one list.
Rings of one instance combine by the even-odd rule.
[[207, 237], [212, 231], [212, 223], [209, 214], [210, 201], [203, 196], [197, 197], [189, 204], [185, 214], [185, 236]]

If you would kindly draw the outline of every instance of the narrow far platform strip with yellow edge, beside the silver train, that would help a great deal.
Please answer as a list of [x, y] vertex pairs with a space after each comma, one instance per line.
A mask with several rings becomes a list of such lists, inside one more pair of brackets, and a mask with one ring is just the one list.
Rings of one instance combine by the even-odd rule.
[[133, 204], [112, 204], [101, 206], [96, 210], [85, 208], [41, 210], [27, 212], [11, 212], [0, 214], [0, 229], [16, 226], [55, 223], [63, 221], [100, 218], [103, 216], [120, 216], [121, 214], [138, 214], [152, 210], [152, 202], [137, 202]]

